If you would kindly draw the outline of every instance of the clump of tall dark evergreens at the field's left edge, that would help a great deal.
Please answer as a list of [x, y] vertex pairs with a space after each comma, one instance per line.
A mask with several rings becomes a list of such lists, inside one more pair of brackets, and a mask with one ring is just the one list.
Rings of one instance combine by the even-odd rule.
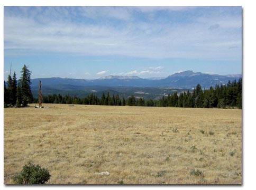
[[15, 71], [12, 77], [10, 74], [8, 75], [7, 82], [4, 81], [4, 107], [26, 107], [28, 103], [33, 102], [30, 87], [31, 71], [24, 65], [19, 80], [16, 78]]

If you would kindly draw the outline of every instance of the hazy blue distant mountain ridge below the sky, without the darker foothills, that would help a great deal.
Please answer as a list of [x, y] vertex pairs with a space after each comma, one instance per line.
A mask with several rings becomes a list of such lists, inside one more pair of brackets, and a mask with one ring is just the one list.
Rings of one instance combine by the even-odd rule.
[[109, 75], [95, 80], [85, 79], [63, 79], [63, 78], [41, 78], [32, 79], [31, 86], [38, 87], [39, 80], [42, 86], [51, 87], [70, 85], [75, 88], [76, 86], [105, 86], [105, 87], [152, 87], [152, 88], [183, 88], [193, 89], [199, 83], [202, 88], [209, 88], [216, 84], [226, 84], [228, 80], [239, 80], [241, 74], [235, 75], [218, 75], [206, 74], [201, 72], [184, 71], [170, 75], [164, 79], [142, 79], [136, 76], [115, 76]]

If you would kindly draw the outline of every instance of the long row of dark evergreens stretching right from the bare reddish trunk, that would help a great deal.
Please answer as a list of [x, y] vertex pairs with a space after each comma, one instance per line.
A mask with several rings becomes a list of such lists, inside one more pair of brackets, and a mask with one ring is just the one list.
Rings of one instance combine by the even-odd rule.
[[[197, 84], [193, 91], [177, 92], [162, 96], [158, 100], [144, 100], [134, 95], [125, 99], [118, 94], [111, 96], [109, 92], [98, 98], [93, 93], [84, 98], [68, 95], [51, 94], [43, 96], [43, 103], [63, 103], [77, 105], [105, 105], [105, 106], [148, 106], [148, 107], [181, 107], [181, 108], [242, 108], [242, 78], [239, 81], [228, 81], [227, 84], [215, 88], [202, 89]], [[34, 103], [38, 99], [34, 98]]]

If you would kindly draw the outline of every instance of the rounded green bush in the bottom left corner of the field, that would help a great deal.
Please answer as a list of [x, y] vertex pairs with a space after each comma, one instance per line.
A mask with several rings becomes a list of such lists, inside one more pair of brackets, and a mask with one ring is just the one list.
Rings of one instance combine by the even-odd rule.
[[14, 175], [13, 181], [15, 184], [45, 184], [49, 181], [50, 177], [48, 169], [29, 162], [23, 166], [20, 173]]

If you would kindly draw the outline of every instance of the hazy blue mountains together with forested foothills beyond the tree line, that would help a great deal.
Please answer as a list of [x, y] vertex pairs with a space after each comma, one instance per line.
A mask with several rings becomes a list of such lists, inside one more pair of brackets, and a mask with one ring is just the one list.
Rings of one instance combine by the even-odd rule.
[[201, 72], [184, 71], [170, 75], [167, 78], [142, 79], [137, 76], [108, 75], [95, 80], [70, 78], [40, 78], [32, 79], [31, 89], [33, 97], [38, 97], [39, 81], [42, 83], [43, 96], [62, 94], [63, 96], [86, 97], [90, 93], [101, 97], [103, 92], [110, 92], [111, 96], [120, 95], [127, 98], [134, 95], [136, 98], [160, 99], [173, 92], [193, 90], [199, 83], [202, 88], [209, 88], [215, 84], [225, 84], [228, 80], [239, 80], [241, 74], [217, 75]]

